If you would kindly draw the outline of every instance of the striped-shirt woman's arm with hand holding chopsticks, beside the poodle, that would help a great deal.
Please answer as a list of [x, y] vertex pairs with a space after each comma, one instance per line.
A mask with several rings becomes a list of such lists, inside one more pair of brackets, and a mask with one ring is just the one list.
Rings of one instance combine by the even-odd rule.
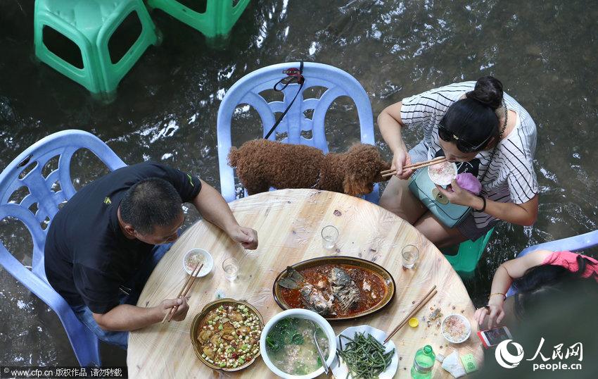
[[403, 166], [411, 164], [411, 159], [401, 136], [401, 129], [405, 126], [401, 121], [401, 106], [402, 102], [399, 101], [384, 108], [378, 115], [378, 128], [382, 138], [393, 151], [393, 162], [390, 168], [397, 170], [397, 176], [405, 180], [411, 176], [413, 170], [405, 170], [405, 172], [402, 170]]

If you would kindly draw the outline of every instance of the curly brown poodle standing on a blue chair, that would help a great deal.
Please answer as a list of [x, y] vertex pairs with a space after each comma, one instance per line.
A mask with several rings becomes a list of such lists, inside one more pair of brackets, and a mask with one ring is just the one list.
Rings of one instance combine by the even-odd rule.
[[370, 144], [355, 144], [342, 154], [326, 154], [315, 147], [283, 144], [268, 139], [232, 147], [229, 165], [248, 194], [266, 192], [270, 187], [315, 188], [350, 195], [369, 194], [382, 181], [381, 170], [390, 168]]

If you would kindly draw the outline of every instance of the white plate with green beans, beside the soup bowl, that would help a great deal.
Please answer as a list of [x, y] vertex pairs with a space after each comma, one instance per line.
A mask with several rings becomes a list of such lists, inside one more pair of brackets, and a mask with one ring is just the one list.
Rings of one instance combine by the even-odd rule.
[[339, 379], [393, 378], [399, 355], [386, 333], [369, 325], [346, 328], [336, 336], [336, 358], [331, 369]]

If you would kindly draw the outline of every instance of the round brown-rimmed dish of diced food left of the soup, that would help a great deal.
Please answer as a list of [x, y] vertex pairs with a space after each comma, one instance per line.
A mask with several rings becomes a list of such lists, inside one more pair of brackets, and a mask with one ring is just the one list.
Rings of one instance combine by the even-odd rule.
[[262, 315], [246, 302], [220, 299], [206, 305], [191, 323], [196, 356], [215, 370], [238, 371], [260, 356]]

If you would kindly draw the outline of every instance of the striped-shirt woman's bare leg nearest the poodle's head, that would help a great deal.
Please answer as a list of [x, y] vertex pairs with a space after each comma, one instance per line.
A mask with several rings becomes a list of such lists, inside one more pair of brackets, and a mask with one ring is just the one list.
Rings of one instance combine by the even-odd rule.
[[409, 190], [409, 181], [400, 180], [396, 176], [388, 181], [378, 205], [412, 225], [428, 211], [426, 206]]

